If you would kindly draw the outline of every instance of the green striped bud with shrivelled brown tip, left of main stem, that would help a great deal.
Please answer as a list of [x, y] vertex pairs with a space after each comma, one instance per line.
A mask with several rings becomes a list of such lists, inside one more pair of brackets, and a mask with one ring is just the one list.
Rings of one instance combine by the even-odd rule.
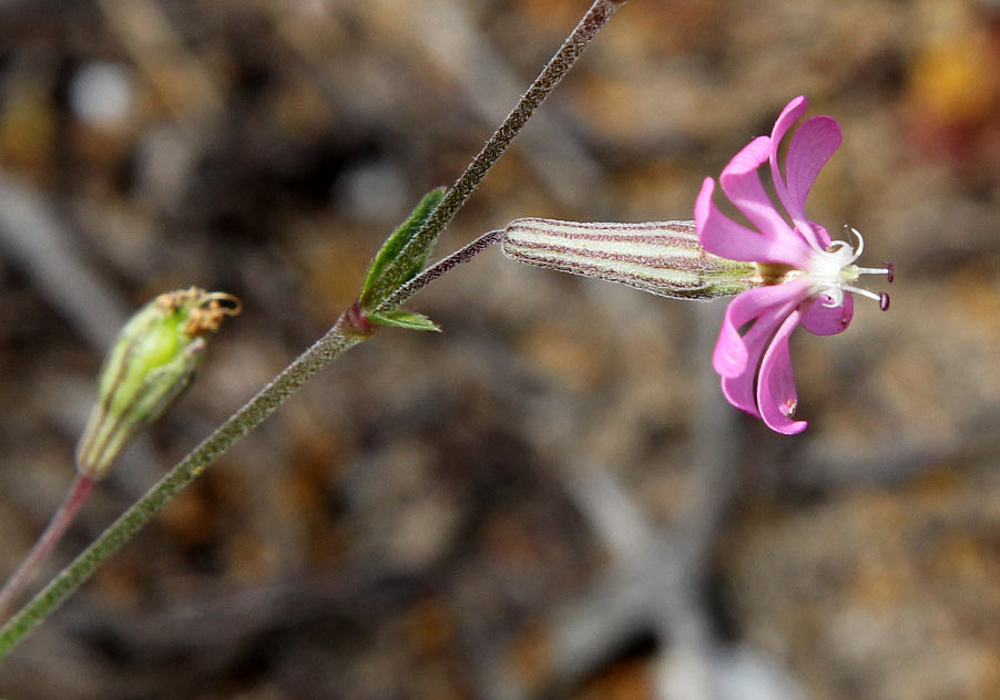
[[103, 477], [125, 444], [155, 421], [194, 379], [205, 350], [204, 334], [239, 300], [192, 287], [156, 297], [121, 330], [99, 375], [98, 402], [76, 445], [76, 469]]

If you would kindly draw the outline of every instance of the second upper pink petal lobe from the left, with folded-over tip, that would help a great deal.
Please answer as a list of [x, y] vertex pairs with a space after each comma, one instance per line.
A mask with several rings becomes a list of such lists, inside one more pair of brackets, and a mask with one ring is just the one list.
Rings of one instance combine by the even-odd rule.
[[767, 136], [757, 136], [722, 171], [718, 183], [729, 200], [767, 238], [776, 240], [795, 234], [764, 192], [757, 168], [768, 161], [774, 146]]

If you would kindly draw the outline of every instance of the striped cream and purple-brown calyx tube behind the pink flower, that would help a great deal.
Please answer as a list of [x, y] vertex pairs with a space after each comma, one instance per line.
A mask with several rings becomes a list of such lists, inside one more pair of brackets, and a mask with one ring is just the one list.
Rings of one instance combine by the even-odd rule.
[[694, 222], [601, 224], [521, 218], [501, 237], [503, 254], [562, 272], [621, 282], [661, 297], [714, 299], [754, 286], [752, 262], [698, 244]]

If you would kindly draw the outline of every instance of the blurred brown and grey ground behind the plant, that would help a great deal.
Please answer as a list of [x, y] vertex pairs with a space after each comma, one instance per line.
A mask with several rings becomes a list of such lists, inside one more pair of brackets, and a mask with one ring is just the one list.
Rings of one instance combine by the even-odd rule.
[[[586, 6], [0, 1], [0, 574], [131, 310], [191, 285], [245, 307], [49, 574], [326, 330]], [[806, 94], [845, 135], [812, 218], [897, 268], [888, 312], [793, 340], [808, 430], [725, 403], [724, 301], [488, 250], [410, 301], [442, 334], [385, 330], [312, 381], [0, 692], [997, 697], [998, 64], [987, 0], [632, 0], [438, 253], [523, 216], [692, 218]]]

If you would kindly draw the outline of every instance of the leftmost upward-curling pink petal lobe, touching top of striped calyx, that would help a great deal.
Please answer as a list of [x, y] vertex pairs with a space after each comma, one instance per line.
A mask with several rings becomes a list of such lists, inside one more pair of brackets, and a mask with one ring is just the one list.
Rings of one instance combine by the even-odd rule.
[[715, 181], [706, 177], [694, 204], [694, 222], [708, 253], [751, 262], [777, 262], [805, 269], [810, 249], [797, 236], [773, 239], [737, 224], [712, 202]]

